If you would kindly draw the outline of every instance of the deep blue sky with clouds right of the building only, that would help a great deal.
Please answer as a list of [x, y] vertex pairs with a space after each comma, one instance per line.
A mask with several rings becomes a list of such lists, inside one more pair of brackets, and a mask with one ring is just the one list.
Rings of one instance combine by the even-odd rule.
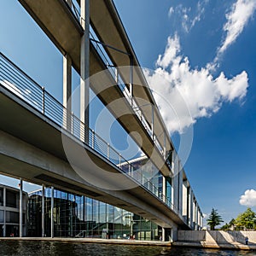
[[160, 69], [170, 84], [179, 79], [189, 101], [194, 141], [185, 170], [203, 212], [215, 207], [230, 221], [247, 206], [255, 211], [255, 191], [244, 195], [255, 189], [255, 1], [115, 3], [141, 66]]

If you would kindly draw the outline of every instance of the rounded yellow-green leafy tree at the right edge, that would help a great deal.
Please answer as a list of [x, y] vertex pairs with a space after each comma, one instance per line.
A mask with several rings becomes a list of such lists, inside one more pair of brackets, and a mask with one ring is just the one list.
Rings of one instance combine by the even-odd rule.
[[251, 208], [247, 208], [245, 212], [240, 213], [235, 219], [236, 227], [239, 230], [255, 229], [256, 213]]

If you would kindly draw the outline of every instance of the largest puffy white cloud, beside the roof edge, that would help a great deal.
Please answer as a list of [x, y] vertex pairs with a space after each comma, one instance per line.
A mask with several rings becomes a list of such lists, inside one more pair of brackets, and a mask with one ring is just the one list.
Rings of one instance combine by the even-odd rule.
[[177, 34], [169, 37], [165, 53], [156, 61], [155, 72], [145, 72], [170, 133], [182, 133], [196, 119], [210, 117], [224, 102], [241, 101], [248, 87], [245, 71], [231, 79], [223, 72], [215, 78], [208, 65], [201, 69], [190, 67], [189, 58], [180, 51]]

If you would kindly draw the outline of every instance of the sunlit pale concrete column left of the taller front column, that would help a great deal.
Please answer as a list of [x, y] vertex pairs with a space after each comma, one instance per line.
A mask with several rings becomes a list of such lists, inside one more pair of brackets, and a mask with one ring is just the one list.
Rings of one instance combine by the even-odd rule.
[[63, 106], [66, 111], [63, 113], [63, 127], [71, 131], [72, 113], [72, 61], [70, 55], [63, 56]]

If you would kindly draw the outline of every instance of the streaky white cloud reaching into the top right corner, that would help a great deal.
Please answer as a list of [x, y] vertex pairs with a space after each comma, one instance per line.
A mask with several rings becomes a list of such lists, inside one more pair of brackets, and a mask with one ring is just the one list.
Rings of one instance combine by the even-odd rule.
[[227, 22], [224, 24], [225, 38], [218, 48], [218, 56], [236, 41], [243, 28], [247, 25], [248, 20], [253, 16], [256, 9], [255, 0], [237, 0], [231, 7], [230, 12], [226, 15]]

